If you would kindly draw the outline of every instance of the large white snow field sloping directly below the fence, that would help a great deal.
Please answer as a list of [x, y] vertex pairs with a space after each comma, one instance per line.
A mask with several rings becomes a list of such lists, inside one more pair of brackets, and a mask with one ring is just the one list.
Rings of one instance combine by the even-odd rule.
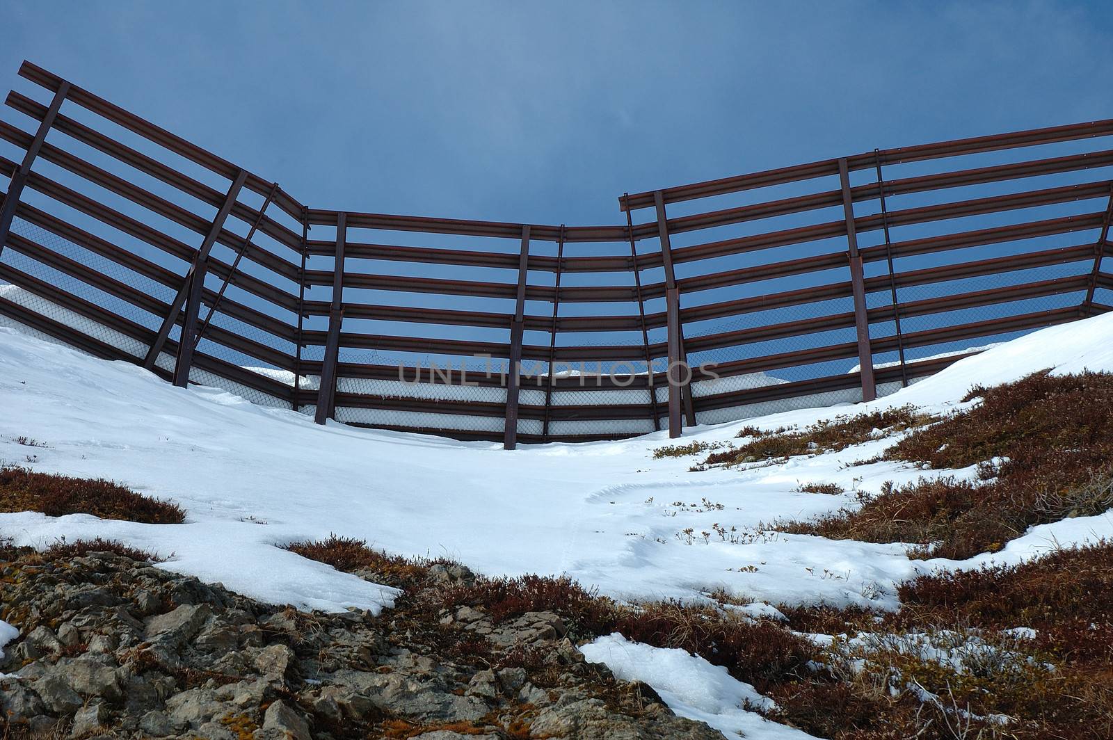
[[[907, 403], [945, 411], [974, 383], [1055, 367], [1113, 371], [1113, 315], [1056, 326], [956, 363], [897, 394], [856, 407], [801, 410], [748, 420], [776, 427]], [[689, 430], [731, 438], [740, 424]], [[936, 565], [899, 544], [760, 534], [761, 522], [837, 509], [844, 496], [796, 493], [835, 482], [876, 491], [924, 471], [895, 463], [846, 468], [887, 442], [794, 458], [760, 470], [688, 472], [696, 457], [653, 460], [658, 433], [611, 443], [525, 445], [368, 431], [254, 406], [215, 388], [180, 389], [127, 363], [107, 363], [0, 328], [0, 461], [46, 472], [115, 478], [174, 499], [181, 525], [0, 514], [0, 535], [49, 544], [104, 536], [175, 558], [162, 566], [220, 581], [272, 602], [343, 609], [388, 605], [390, 589], [298, 558], [276, 545], [329, 533], [404, 554], [445, 554], [487, 574], [567, 573], [629, 598], [689, 598], [721, 586], [772, 602], [894, 608], [893, 584]], [[16, 443], [26, 435], [47, 448]], [[33, 462], [27, 462], [28, 456]], [[703, 503], [706, 500], [707, 503]], [[710, 505], [708, 505], [710, 504]], [[721, 507], [720, 507], [721, 505]], [[712, 524], [752, 534], [731, 544], [699, 535]], [[678, 533], [696, 532], [688, 544]], [[1109, 514], [1036, 527], [993, 558], [1113, 534]], [[986, 556], [988, 558], [988, 556]]]

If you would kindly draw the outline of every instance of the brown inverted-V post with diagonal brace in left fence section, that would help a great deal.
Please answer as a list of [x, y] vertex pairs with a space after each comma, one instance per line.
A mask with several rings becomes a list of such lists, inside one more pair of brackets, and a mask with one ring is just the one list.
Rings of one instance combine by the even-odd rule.
[[185, 307], [185, 317], [181, 320], [181, 334], [178, 335], [178, 354], [174, 364], [174, 384], [180, 388], [189, 385], [189, 367], [194, 361], [194, 336], [197, 333], [197, 315], [200, 313], [201, 294], [205, 290], [208, 256], [213, 251], [213, 245], [216, 244], [216, 238], [220, 235], [220, 229], [224, 228], [224, 223], [227, 220], [228, 214], [232, 213], [232, 207], [235, 205], [236, 198], [239, 197], [239, 191], [244, 187], [246, 179], [247, 170], [239, 170], [236, 179], [233, 180], [232, 186], [228, 188], [227, 195], [224, 197], [220, 210], [217, 211], [216, 217], [209, 225], [208, 234], [205, 235], [201, 246], [197, 248], [197, 254], [194, 255], [194, 262], [186, 272], [181, 287], [178, 289], [178, 294], [174, 297], [174, 300], [170, 302], [170, 309], [162, 318], [162, 326], [159, 327], [158, 335], [155, 337], [155, 342], [151, 343], [150, 349], [147, 351], [147, 357], [144, 359], [144, 367], [147, 369], [151, 369], [155, 366], [155, 361], [158, 359], [158, 355], [162, 352], [162, 346], [166, 344], [167, 337], [170, 336], [170, 329], [178, 320], [178, 312]]

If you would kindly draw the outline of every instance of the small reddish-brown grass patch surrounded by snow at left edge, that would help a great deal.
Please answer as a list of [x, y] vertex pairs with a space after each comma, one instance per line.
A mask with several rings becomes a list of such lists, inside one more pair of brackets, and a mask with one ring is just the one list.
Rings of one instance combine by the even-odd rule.
[[145, 524], [180, 524], [180, 506], [158, 501], [111, 481], [0, 468], [0, 512], [36, 511], [48, 516], [92, 514]]

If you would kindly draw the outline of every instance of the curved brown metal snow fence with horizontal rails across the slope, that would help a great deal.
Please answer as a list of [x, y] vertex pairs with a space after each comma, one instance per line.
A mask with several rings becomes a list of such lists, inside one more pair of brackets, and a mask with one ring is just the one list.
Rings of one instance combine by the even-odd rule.
[[1113, 120], [623, 194], [626, 224], [309, 208], [30, 62], [0, 323], [316, 421], [615, 438], [892, 393], [1113, 304]]

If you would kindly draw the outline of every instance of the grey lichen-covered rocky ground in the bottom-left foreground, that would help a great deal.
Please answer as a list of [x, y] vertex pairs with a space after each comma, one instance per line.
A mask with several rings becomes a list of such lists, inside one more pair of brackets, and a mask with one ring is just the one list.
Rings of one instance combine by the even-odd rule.
[[[437, 565], [422, 588], [472, 578]], [[585, 663], [549, 612], [303, 613], [111, 552], [12, 549], [0, 603], [20, 631], [4, 738], [721, 739]]]

